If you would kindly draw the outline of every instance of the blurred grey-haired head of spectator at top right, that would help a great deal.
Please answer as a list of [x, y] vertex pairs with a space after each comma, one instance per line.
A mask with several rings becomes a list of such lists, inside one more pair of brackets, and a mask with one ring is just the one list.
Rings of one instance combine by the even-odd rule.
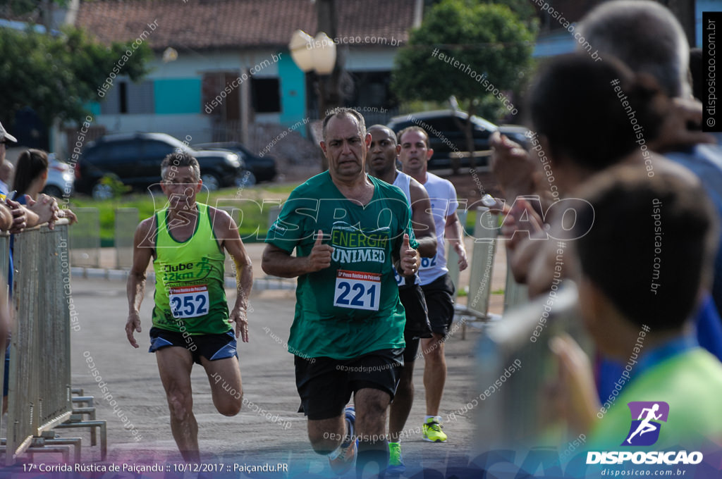
[[688, 97], [690, 45], [682, 25], [665, 6], [651, 0], [606, 1], [582, 19], [581, 35], [593, 48], [659, 82], [667, 95]]

